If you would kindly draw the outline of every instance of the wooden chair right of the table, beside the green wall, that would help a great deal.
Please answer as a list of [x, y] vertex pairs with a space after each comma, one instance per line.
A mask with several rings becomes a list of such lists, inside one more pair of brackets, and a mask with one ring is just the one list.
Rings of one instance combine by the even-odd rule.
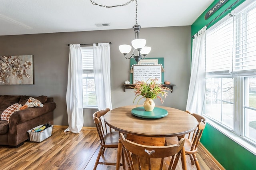
[[[186, 111], [186, 112], [191, 114], [189, 111]], [[193, 165], [196, 164], [196, 169], [200, 170], [200, 166], [199, 166], [198, 160], [196, 158], [196, 153], [197, 153], [197, 146], [200, 142], [202, 133], [206, 126], [206, 119], [203, 116], [198, 115], [196, 113], [193, 113], [191, 115], [193, 115], [197, 119], [198, 125], [193, 133], [189, 133], [188, 136], [184, 138], [185, 139], [184, 147], [185, 147], [185, 153], [189, 154], [189, 156], [190, 156], [191, 164], [193, 164]], [[167, 145], [176, 144], [176, 143], [178, 143], [178, 138], [177, 137], [168, 137], [165, 139], [165, 141], [166, 141]]]

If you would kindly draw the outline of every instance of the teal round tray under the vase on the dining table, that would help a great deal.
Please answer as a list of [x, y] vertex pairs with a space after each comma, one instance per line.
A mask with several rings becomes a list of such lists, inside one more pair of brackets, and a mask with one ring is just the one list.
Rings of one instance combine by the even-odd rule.
[[142, 118], [156, 119], [167, 116], [168, 111], [159, 107], [155, 107], [153, 111], [145, 111], [144, 107], [136, 107], [132, 109], [132, 115]]

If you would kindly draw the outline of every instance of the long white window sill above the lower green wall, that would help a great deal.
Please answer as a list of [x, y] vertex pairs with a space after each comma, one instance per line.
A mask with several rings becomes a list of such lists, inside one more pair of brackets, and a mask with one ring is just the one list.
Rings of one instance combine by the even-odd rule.
[[250, 142], [244, 140], [242, 138], [242, 136], [238, 136], [237, 134], [235, 134], [234, 132], [231, 132], [230, 130], [227, 130], [226, 128], [223, 128], [222, 126], [218, 125], [217, 123], [215, 123], [212, 120], [207, 120], [207, 123], [209, 123], [209, 125], [211, 125], [212, 127], [216, 128], [217, 130], [219, 130], [220, 132], [222, 132], [224, 135], [226, 135], [228, 138], [230, 138], [231, 140], [233, 140], [234, 142], [238, 143], [239, 145], [241, 145], [243, 148], [245, 148], [246, 150], [248, 150], [249, 152], [251, 152], [252, 154], [256, 155], [256, 146], [254, 146], [253, 144], [251, 144]]

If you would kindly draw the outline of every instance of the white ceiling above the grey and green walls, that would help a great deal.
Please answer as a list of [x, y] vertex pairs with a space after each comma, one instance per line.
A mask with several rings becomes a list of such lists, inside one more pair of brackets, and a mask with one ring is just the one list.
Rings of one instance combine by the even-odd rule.
[[[214, 0], [138, 0], [142, 28], [189, 26]], [[106, 6], [129, 0], [94, 0]], [[0, 36], [127, 29], [136, 24], [136, 1], [104, 8], [90, 0], [0, 0]], [[109, 26], [97, 27], [95, 24]]]

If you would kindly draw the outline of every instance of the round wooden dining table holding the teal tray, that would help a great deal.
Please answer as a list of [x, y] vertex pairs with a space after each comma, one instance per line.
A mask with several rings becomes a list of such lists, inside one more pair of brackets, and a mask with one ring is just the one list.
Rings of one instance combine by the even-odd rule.
[[[132, 109], [136, 105], [123, 106], [109, 111], [104, 119], [106, 124], [119, 132], [145, 137], [184, 137], [198, 125], [195, 117], [185, 111], [171, 107], [156, 106], [165, 109], [168, 115], [161, 118], [143, 118], [132, 114]], [[118, 143], [118, 156], [116, 170], [120, 168], [122, 143]], [[186, 161], [182, 160], [182, 166], [186, 166]]]

